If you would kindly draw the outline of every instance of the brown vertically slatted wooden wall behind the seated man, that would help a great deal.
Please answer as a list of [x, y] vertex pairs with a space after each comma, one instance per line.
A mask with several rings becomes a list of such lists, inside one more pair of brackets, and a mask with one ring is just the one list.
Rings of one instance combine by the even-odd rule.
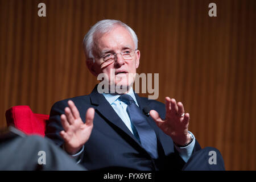
[[[40, 18], [38, 3], [47, 6]], [[208, 16], [210, 2], [217, 17]], [[101, 19], [129, 24], [139, 38], [138, 73], [159, 73], [159, 101], [183, 102], [189, 130], [217, 147], [226, 169], [256, 170], [254, 0], [0, 0], [0, 126], [5, 111], [89, 94], [82, 39]], [[146, 96], [147, 94], [142, 94]]]

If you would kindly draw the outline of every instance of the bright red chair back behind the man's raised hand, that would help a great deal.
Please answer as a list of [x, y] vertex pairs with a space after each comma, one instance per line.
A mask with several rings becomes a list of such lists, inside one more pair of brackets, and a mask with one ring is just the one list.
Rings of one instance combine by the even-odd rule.
[[13, 106], [5, 113], [7, 126], [14, 126], [27, 135], [44, 137], [49, 115], [35, 114], [29, 106]]

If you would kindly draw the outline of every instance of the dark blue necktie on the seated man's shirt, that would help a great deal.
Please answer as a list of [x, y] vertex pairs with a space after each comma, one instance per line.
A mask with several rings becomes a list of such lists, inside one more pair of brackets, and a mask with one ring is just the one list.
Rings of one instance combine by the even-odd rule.
[[[155, 131], [148, 124], [146, 116], [142, 113], [142, 110], [139, 109], [133, 98], [128, 94], [123, 94], [119, 97], [119, 100], [127, 103], [127, 113], [129, 114], [131, 123], [138, 132], [142, 147], [152, 158], [158, 158]], [[136, 131], [134, 135], [136, 137]]]

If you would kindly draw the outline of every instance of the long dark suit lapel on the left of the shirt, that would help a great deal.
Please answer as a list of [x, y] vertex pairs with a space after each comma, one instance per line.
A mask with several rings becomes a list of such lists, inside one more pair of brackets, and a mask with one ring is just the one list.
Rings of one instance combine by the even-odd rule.
[[95, 109], [106, 119], [107, 122], [110, 122], [113, 125], [117, 126], [118, 129], [129, 135], [130, 138], [132, 138], [137, 144], [139, 144], [139, 146], [141, 146], [141, 144], [127, 128], [125, 123], [123, 123], [122, 119], [118, 116], [118, 114], [115, 112], [115, 110], [106, 100], [106, 98], [102, 94], [98, 93], [97, 85], [90, 94], [90, 100], [92, 102], [92, 105], [97, 106]]

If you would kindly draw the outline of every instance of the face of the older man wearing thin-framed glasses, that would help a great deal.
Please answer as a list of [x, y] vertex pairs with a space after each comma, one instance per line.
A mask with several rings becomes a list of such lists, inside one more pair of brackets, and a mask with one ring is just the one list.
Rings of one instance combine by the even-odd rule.
[[[135, 51], [133, 38], [124, 27], [114, 27], [110, 32], [95, 36], [96, 47], [95, 63], [91, 67], [94, 75], [105, 73], [109, 78], [109, 85], [119, 85], [127, 90], [133, 85], [136, 69], [139, 67], [140, 52]], [[126, 60], [121, 52], [132, 52], [130, 60]], [[114, 55], [114, 59], [108, 60], [109, 55]], [[90, 67], [89, 67], [90, 69]], [[91, 72], [92, 72], [92, 69]], [[134, 74], [131, 74], [134, 73]]]

